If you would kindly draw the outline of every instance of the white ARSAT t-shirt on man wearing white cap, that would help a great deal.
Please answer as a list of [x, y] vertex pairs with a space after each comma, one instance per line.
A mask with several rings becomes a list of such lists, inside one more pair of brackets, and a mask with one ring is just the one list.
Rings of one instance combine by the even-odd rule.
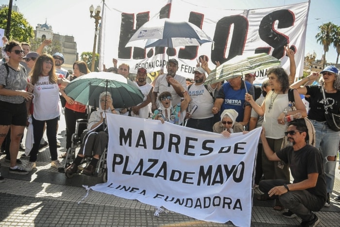
[[[215, 89], [208, 85], [208, 89], [214, 94]], [[191, 85], [188, 88], [188, 94], [191, 98], [189, 103], [189, 112], [191, 111], [194, 105], [197, 105], [198, 108], [192, 114], [191, 118], [193, 119], [205, 119], [214, 117], [214, 114], [211, 112], [211, 108], [214, 107], [214, 99], [211, 97], [209, 91], [202, 85]]]

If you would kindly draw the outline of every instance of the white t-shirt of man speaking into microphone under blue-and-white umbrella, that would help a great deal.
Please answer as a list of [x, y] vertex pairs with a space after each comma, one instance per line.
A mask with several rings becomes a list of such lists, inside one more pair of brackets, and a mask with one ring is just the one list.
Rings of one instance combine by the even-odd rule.
[[[185, 90], [187, 90], [187, 82], [186, 82], [185, 77], [176, 74], [173, 78], [177, 80], [178, 83], [180, 83]], [[175, 89], [171, 85], [168, 86], [167, 74], [158, 76], [156, 83], [154, 85], [154, 88], [153, 88], [153, 92], [158, 92], [157, 96], [159, 96], [164, 91], [170, 92], [173, 104], [177, 104], [181, 102], [181, 97], [176, 93]], [[159, 106], [158, 98], [157, 98], [156, 105]]]

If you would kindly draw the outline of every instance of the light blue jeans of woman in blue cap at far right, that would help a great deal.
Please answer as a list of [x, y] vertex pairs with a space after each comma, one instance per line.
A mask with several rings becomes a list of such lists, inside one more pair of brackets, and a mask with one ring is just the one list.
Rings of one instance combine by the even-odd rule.
[[336, 157], [339, 148], [340, 132], [329, 129], [326, 122], [310, 120], [315, 128], [315, 147], [323, 154], [323, 170], [326, 178], [327, 193], [332, 193], [335, 178], [336, 159], [330, 161], [327, 157]]

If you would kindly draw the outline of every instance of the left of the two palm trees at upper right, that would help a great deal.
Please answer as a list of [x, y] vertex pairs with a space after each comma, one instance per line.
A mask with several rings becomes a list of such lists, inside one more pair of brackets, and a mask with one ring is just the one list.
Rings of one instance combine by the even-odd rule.
[[335, 24], [332, 22], [328, 22], [319, 26], [319, 33], [315, 35], [318, 43], [323, 45], [324, 51], [324, 61], [323, 61], [323, 68], [326, 62], [326, 52], [329, 50], [329, 46], [333, 43], [334, 40], [334, 29]]

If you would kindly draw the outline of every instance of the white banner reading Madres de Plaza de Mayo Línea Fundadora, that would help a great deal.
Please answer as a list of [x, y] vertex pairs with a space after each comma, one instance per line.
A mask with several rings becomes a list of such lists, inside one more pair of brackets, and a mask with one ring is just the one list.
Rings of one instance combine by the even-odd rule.
[[108, 114], [107, 122], [108, 182], [93, 190], [200, 220], [250, 226], [261, 128], [225, 138], [114, 114]]

